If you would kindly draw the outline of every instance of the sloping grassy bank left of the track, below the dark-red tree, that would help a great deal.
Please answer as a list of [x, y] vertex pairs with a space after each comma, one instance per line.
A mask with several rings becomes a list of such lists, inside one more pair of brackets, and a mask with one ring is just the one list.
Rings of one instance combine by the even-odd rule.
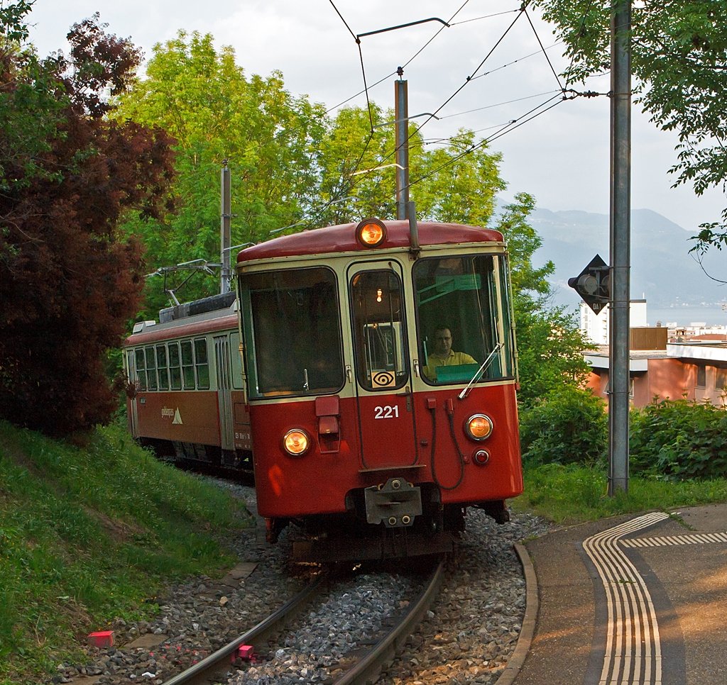
[[113, 618], [150, 617], [164, 583], [219, 575], [249, 515], [118, 426], [73, 447], [0, 421], [0, 684], [36, 683]]

